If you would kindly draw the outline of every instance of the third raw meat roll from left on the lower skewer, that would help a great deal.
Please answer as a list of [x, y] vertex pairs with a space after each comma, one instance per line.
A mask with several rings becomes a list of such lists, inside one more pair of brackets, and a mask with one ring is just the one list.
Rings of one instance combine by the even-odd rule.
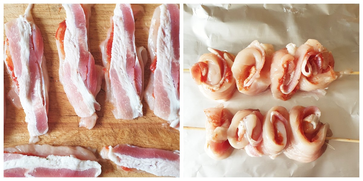
[[277, 155], [284, 152], [287, 140], [287, 129], [289, 129], [287, 120], [289, 113], [282, 106], [271, 108], [265, 115], [262, 125], [262, 143], [258, 146], [264, 155], [269, 155], [275, 159]]

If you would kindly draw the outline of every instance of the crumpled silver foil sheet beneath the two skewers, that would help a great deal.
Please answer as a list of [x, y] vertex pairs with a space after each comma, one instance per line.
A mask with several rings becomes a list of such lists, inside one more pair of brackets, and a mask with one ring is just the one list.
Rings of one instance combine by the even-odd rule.
[[[257, 39], [275, 50], [288, 43], [302, 45], [317, 39], [333, 53], [335, 71], [359, 71], [358, 4], [184, 4], [184, 64], [189, 68], [207, 47], [234, 55]], [[184, 126], [205, 127], [203, 109], [218, 101], [204, 97], [184, 72]], [[307, 96], [307, 97], [306, 97]], [[329, 85], [318, 100], [299, 91], [290, 100], [274, 99], [270, 90], [257, 96], [238, 90], [223, 103], [233, 114], [242, 109], [260, 109], [265, 114], [276, 105], [288, 111], [295, 105], [318, 106], [321, 122], [329, 123], [333, 137], [359, 139], [359, 76], [344, 75]], [[249, 157], [234, 150], [224, 160], [204, 152], [205, 131], [184, 130], [184, 177], [359, 177], [359, 143], [330, 141], [335, 148], [311, 163], [268, 156]]]

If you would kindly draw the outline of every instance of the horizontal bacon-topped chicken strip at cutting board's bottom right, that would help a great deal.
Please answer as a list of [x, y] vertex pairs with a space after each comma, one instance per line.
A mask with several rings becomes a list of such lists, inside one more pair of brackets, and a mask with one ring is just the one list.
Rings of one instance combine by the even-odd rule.
[[118, 144], [115, 147], [103, 147], [100, 155], [125, 171], [141, 170], [156, 176], [170, 177], [179, 177], [180, 174], [180, 156], [177, 152]]

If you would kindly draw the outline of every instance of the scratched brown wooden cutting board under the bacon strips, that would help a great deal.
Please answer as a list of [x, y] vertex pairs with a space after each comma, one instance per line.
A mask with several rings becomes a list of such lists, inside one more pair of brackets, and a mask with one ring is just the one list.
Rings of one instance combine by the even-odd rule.
[[[135, 42], [136, 46], [147, 47], [148, 30], [154, 9], [160, 4], [139, 4], [144, 13], [135, 16]], [[4, 23], [24, 14], [28, 4], [4, 4]], [[110, 17], [113, 16], [115, 4], [96, 4], [91, 9], [89, 25], [89, 51], [95, 59], [95, 64], [102, 65], [99, 44], [106, 39], [110, 28]], [[105, 83], [96, 100], [101, 110], [96, 111], [98, 120], [93, 129], [78, 127], [79, 117], [74, 112], [63, 86], [59, 81], [59, 58], [56, 46], [55, 33], [58, 24], [66, 18], [65, 10], [61, 4], [34, 4], [32, 15], [35, 24], [42, 33], [44, 40], [44, 55], [48, 66], [49, 83], [49, 131], [39, 136], [41, 141], [37, 144], [50, 144], [53, 146], [69, 145], [97, 149], [96, 155], [104, 146], [117, 144], [131, 144], [144, 148], [159, 148], [163, 150], [179, 150], [179, 131], [164, 126], [166, 121], [154, 115], [143, 101], [144, 116], [133, 120], [116, 120], [111, 110], [113, 105], [106, 102]], [[4, 41], [6, 39], [4, 30]], [[145, 68], [145, 85], [150, 77], [150, 56]], [[5, 93], [10, 90], [11, 78], [4, 64]], [[4, 147], [27, 144], [29, 133], [25, 123], [23, 109], [17, 109], [6, 98], [6, 119], [4, 120]], [[101, 158], [101, 157], [99, 157]], [[109, 160], [100, 160], [102, 173], [100, 177], [152, 177], [149, 173], [127, 173], [116, 168]]]

